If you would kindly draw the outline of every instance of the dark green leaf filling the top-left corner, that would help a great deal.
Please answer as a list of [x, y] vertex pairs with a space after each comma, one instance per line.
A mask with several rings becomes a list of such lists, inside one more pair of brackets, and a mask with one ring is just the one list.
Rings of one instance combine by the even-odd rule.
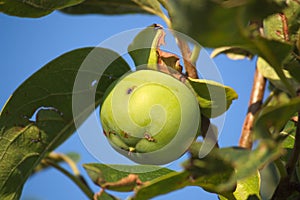
[[42, 17], [56, 9], [82, 3], [84, 0], [24, 0], [0, 2], [0, 12], [18, 17]]

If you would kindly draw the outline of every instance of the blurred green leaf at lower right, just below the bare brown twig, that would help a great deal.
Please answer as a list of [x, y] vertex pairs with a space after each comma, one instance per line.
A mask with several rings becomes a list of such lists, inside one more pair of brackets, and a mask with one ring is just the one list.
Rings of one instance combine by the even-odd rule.
[[[213, 149], [206, 157], [199, 159], [199, 151], [201, 150], [201, 143], [194, 143], [190, 147], [190, 152], [192, 153], [193, 160], [200, 160], [200, 161], [210, 161], [210, 168], [216, 168], [218, 170], [227, 168], [228, 171], [230, 166], [235, 169], [235, 173], [227, 174], [223, 179], [223, 182], [219, 181], [218, 188], [219, 193], [220, 191], [226, 192], [233, 186], [235, 186], [236, 181], [242, 180], [251, 176], [253, 173], [256, 173], [261, 167], [263, 167], [266, 163], [278, 158], [282, 155], [283, 151], [282, 148], [272, 141], [264, 141], [261, 142], [255, 150], [246, 150], [237, 147], [229, 147], [229, 148], [221, 148], [221, 149]], [[211, 158], [209, 158], [211, 157]], [[192, 164], [193, 165], [193, 164]], [[206, 164], [208, 165], [208, 164]], [[205, 166], [202, 164], [202, 166]], [[213, 167], [214, 166], [214, 167]], [[188, 169], [191, 167], [188, 167]], [[207, 169], [207, 168], [206, 168]], [[201, 169], [196, 166], [194, 169], [195, 171], [193, 174], [197, 173], [205, 173], [205, 169]], [[215, 170], [215, 171], [218, 171]], [[214, 171], [214, 172], [215, 172]], [[221, 173], [222, 174], [222, 173]], [[220, 174], [220, 176], [221, 176]], [[229, 176], [230, 175], [230, 176]], [[225, 193], [226, 194], [226, 193]]]

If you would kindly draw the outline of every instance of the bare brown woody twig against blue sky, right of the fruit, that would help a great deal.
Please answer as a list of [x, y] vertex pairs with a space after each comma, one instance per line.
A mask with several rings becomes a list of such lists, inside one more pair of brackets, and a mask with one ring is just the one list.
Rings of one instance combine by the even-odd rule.
[[254, 115], [260, 109], [265, 92], [266, 80], [256, 68], [247, 115], [243, 124], [239, 146], [247, 149], [252, 148], [252, 127]]

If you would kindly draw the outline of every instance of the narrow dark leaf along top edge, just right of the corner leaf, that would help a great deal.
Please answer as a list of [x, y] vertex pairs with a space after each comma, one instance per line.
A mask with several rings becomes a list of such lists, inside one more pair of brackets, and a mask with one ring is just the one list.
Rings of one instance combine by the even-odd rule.
[[68, 14], [130, 14], [147, 13], [140, 5], [131, 0], [86, 0], [79, 5], [61, 10]]

